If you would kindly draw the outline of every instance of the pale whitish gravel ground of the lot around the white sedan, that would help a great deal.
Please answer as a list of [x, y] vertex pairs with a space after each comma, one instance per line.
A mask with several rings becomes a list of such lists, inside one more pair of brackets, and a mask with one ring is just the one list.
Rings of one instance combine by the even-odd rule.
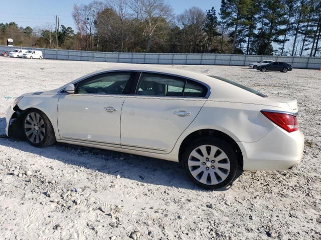
[[[20, 94], [123, 64], [0, 57], [0, 134]], [[268, 95], [297, 98], [302, 162], [288, 171], [244, 172], [229, 189], [208, 191], [175, 162], [0, 137], [0, 239], [130, 239], [133, 231], [133, 239], [321, 238], [321, 71], [161, 66], [210, 69]]]

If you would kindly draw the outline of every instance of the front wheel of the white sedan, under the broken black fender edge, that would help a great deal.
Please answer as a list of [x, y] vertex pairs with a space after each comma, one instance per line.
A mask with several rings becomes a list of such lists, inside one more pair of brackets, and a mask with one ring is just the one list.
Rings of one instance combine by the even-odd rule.
[[[38, 134], [38, 130], [37, 130], [37, 133], [35, 132], [35, 128], [33, 128], [34, 126], [31, 121], [31, 119], [35, 118], [34, 116], [37, 116], [37, 115], [40, 116], [39, 121], [41, 122], [39, 124], [39, 126], [37, 124], [37, 126], [39, 128], [39, 134]], [[32, 118], [30, 118], [30, 116]], [[29, 127], [29, 125], [30, 125], [30, 127]], [[45, 146], [50, 146], [56, 142], [54, 128], [53, 128], [49, 118], [41, 110], [38, 110], [38, 109], [28, 110], [24, 114], [23, 121], [22, 121], [22, 127], [23, 127], [24, 136], [26, 137], [27, 141], [33, 146], [45, 147]], [[42, 129], [44, 129], [44, 130], [42, 130]], [[39, 137], [38, 136], [33, 137], [34, 132], [36, 134], [38, 134]]]

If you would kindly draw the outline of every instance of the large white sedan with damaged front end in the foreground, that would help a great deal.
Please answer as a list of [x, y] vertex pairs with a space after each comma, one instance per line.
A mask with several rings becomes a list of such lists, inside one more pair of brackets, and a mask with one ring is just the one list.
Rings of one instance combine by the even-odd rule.
[[26, 93], [7, 114], [8, 136], [181, 162], [216, 189], [238, 170], [286, 170], [301, 160], [295, 99], [266, 96], [217, 76], [149, 66], [97, 71]]

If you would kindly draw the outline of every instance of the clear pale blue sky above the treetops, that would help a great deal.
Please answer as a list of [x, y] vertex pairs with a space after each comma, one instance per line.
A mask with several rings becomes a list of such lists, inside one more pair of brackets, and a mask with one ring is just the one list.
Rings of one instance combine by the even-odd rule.
[[[92, 0], [4, 0], [1, 2], [0, 23], [15, 21], [19, 26], [32, 28], [46, 26], [48, 22], [56, 24], [56, 15], [60, 17], [59, 25], [75, 24], [71, 16], [74, 3], [88, 4]], [[102, 0], [104, 1], [104, 0]], [[219, 11], [221, 0], [167, 0], [175, 14], [185, 9], [198, 6], [204, 11], [214, 6]]]

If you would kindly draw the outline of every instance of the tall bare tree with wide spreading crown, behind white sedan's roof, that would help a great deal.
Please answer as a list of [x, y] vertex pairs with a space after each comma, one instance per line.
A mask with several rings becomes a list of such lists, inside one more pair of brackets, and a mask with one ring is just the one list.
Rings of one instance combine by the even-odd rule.
[[171, 21], [173, 10], [164, 0], [131, 0], [130, 8], [146, 30], [146, 52], [149, 52], [150, 40], [164, 19]]

